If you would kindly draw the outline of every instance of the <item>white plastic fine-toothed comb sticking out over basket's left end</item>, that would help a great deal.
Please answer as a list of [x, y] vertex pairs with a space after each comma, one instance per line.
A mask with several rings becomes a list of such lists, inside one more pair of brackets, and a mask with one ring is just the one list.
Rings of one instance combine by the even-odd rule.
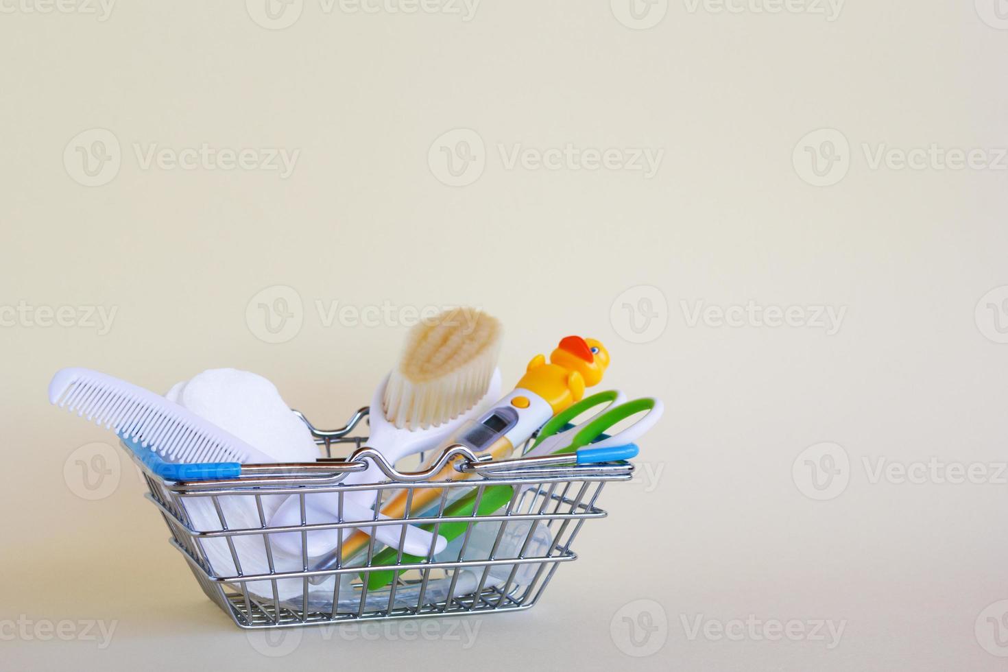
[[177, 462], [274, 461], [245, 441], [164, 397], [90, 369], [62, 369], [49, 402]]

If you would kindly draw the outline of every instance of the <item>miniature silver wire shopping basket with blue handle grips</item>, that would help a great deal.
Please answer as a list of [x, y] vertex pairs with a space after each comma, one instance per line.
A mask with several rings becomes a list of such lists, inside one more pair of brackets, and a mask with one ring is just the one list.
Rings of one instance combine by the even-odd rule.
[[[625, 461], [563, 463], [571, 462], [570, 455], [485, 461], [456, 445], [428, 469], [398, 472], [381, 453], [362, 447], [365, 436], [352, 435], [362, 428], [367, 412], [360, 409], [336, 430], [317, 429], [298, 413], [320, 445], [319, 461], [243, 464], [240, 474], [228, 478], [167, 479], [146, 453], [125, 446], [143, 472], [150, 489], [147, 499], [171, 531], [171, 544], [207, 596], [239, 627], [528, 609], [541, 596], [556, 567], [577, 559], [571, 546], [585, 521], [606, 516], [597, 507], [603, 487], [610, 481], [630, 480], [633, 471]], [[346, 459], [334, 459], [333, 446], [341, 444], [354, 444], [356, 449]], [[377, 463], [388, 481], [341, 485], [348, 474], [365, 469], [368, 460]], [[469, 478], [429, 480], [449, 462]], [[438, 503], [427, 511], [410, 511], [412, 494], [424, 488], [439, 489]], [[401, 517], [384, 520], [373, 514], [362, 521], [345, 515], [344, 497], [351, 491], [373, 494], [378, 511], [403, 489], [409, 495]], [[306, 522], [309, 498], [330, 493], [338, 501], [332, 521]], [[271, 526], [269, 510], [290, 497], [299, 500], [300, 524]], [[468, 514], [452, 515], [458, 509], [453, 502], [463, 498], [472, 503]], [[485, 511], [481, 502], [492, 500], [506, 504]], [[213, 524], [208, 525], [208, 519]], [[434, 536], [451, 526], [457, 536], [440, 553], [431, 546], [425, 556], [408, 555], [371, 536], [364, 551], [345, 558], [344, 534], [332, 532], [393, 526], [404, 539], [406, 523], [423, 526]], [[307, 535], [325, 531], [338, 539], [336, 548], [322, 557], [309, 557]], [[300, 554], [278, 552], [279, 534], [288, 539], [299, 535]]]

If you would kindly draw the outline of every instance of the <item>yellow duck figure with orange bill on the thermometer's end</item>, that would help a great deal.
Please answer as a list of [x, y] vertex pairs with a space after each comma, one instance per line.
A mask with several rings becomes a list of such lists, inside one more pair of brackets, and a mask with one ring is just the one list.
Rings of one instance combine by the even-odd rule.
[[545, 399], [559, 413], [585, 396], [585, 388], [598, 385], [609, 366], [609, 351], [595, 339], [566, 337], [549, 355], [528, 363], [517, 387]]

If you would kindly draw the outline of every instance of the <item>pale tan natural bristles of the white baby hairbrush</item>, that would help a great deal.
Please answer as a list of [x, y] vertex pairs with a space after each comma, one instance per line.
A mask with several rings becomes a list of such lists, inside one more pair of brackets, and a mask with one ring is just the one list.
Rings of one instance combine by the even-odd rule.
[[385, 386], [385, 418], [425, 429], [448, 422], [486, 395], [497, 367], [501, 324], [473, 308], [440, 313], [409, 330]]

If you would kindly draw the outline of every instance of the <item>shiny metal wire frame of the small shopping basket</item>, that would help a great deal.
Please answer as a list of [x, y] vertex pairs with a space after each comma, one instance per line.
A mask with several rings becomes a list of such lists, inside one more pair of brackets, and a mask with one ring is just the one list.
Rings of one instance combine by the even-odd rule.
[[[556, 568], [563, 562], [571, 562], [578, 555], [571, 546], [586, 520], [606, 517], [606, 512], [598, 508], [597, 501], [603, 487], [611, 481], [629, 481], [633, 465], [628, 462], [603, 464], [575, 464], [566, 457], [531, 457], [500, 460], [497, 462], [481, 459], [467, 447], [454, 445], [447, 448], [436, 462], [421, 472], [399, 472], [384, 456], [373, 448], [363, 446], [366, 436], [351, 434], [361, 428], [368, 415], [368, 408], [359, 409], [344, 427], [332, 430], [316, 428], [299, 412], [294, 413], [304, 421], [319, 444], [323, 457], [316, 462], [243, 464], [241, 475], [233, 479], [208, 481], [174, 482], [164, 481], [151, 472], [132, 450], [125, 448], [134, 462], [142, 471], [149, 492], [145, 495], [160, 511], [171, 533], [169, 542], [185, 558], [190, 569], [207, 596], [230, 615], [235, 624], [243, 629], [290, 628], [308, 625], [344, 624], [364, 620], [428, 618], [445, 616], [473, 616], [485, 613], [525, 610], [534, 606], [552, 579]], [[356, 448], [347, 458], [333, 458], [333, 447], [354, 445]], [[362, 447], [363, 446], [363, 447]], [[524, 447], [524, 446], [521, 446]], [[521, 450], [516, 450], [520, 454]], [[421, 456], [422, 459], [422, 456]], [[388, 477], [383, 483], [343, 485], [348, 474], [360, 472], [368, 462], [376, 463]], [[454, 461], [455, 468], [469, 477], [460, 481], [430, 481], [440, 468]], [[565, 462], [565, 463], [564, 463]], [[476, 507], [489, 487], [510, 486], [512, 496], [508, 505], [490, 516], [477, 516]], [[412, 493], [418, 489], [443, 489], [437, 512], [434, 516], [414, 515], [410, 510]], [[374, 493], [374, 511], [381, 508], [393, 493], [405, 489], [409, 495], [402, 517], [388, 520], [346, 521], [343, 515], [344, 494], [350, 491]], [[447, 503], [462, 493], [478, 491], [474, 515], [449, 517], [444, 515]], [[306, 523], [305, 497], [319, 493], [338, 493], [339, 510], [336, 522]], [[270, 526], [263, 510], [263, 497], [285, 495], [300, 500], [301, 521], [294, 526]], [[230, 527], [221, 506], [223, 497], [250, 498], [258, 511], [258, 527]], [[190, 522], [185, 504], [193, 498], [210, 498], [220, 518], [221, 529], [198, 531]], [[423, 512], [416, 512], [423, 513]], [[520, 550], [507, 557], [498, 557], [505, 531], [514, 523], [530, 521], [528, 532]], [[442, 524], [466, 523], [462, 547], [458, 557], [449, 561], [435, 561], [433, 548], [419, 562], [408, 562], [402, 551], [396, 555], [394, 565], [372, 565], [376, 550], [382, 547], [369, 538], [366, 553], [353, 564], [347, 564], [342, 557], [343, 541], [340, 539], [336, 550], [327, 558], [307, 556], [307, 533], [314, 530], [344, 528], [372, 528], [381, 525], [404, 523], [432, 524], [433, 534]], [[486, 557], [466, 557], [466, 550], [474, 525], [477, 523], [500, 523], [496, 540]], [[533, 535], [544, 526], [549, 534], [548, 549], [544, 553], [528, 552]], [[276, 570], [270, 537], [281, 532], [300, 532], [301, 567], [297, 571]], [[241, 557], [236, 551], [234, 540], [244, 535], [261, 537], [269, 573], [243, 573]], [[342, 536], [342, 535], [341, 535]], [[210, 539], [227, 540], [228, 548], [237, 571], [233, 574], [216, 572], [212, 566], [204, 544]], [[490, 580], [492, 567], [510, 566], [508, 579], [501, 584]], [[527, 583], [514, 580], [519, 567], [534, 565], [535, 573]], [[393, 570], [393, 580], [383, 588], [369, 590], [367, 581], [361, 576], [369, 576], [372, 571]], [[457, 594], [457, 582], [464, 571], [480, 574], [475, 590]], [[434, 574], [443, 574], [438, 585], [449, 581], [447, 594], [431, 598], [427, 587], [433, 584]], [[320, 608], [309, 599], [312, 586], [327, 578], [336, 577], [335, 589], [330, 609]], [[301, 599], [280, 599], [277, 581], [301, 579], [303, 590]], [[251, 581], [269, 581], [273, 598], [268, 599], [253, 593], [246, 586]], [[349, 582], [349, 586], [348, 586]], [[288, 583], [289, 585], [289, 583]], [[418, 591], [417, 591], [418, 589]], [[341, 591], [352, 590], [356, 609], [341, 599]], [[404, 591], [417, 591], [415, 600], [402, 598]], [[400, 593], [399, 601], [396, 594]], [[360, 594], [359, 606], [356, 604]], [[387, 601], [386, 601], [387, 597]], [[353, 607], [353, 606], [352, 606]]]

